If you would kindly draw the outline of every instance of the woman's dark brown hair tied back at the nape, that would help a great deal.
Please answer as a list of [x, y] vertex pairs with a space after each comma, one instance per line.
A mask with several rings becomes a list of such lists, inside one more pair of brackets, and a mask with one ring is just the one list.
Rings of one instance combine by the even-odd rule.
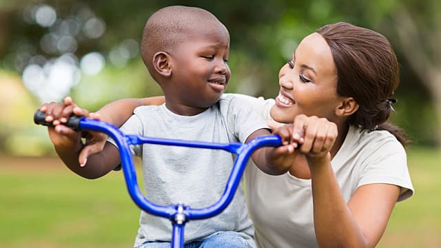
[[391, 100], [400, 81], [400, 69], [389, 41], [378, 32], [349, 23], [334, 23], [316, 30], [331, 48], [337, 68], [337, 94], [351, 96], [359, 105], [349, 124], [367, 130], [387, 130], [402, 145], [404, 132], [387, 122]]

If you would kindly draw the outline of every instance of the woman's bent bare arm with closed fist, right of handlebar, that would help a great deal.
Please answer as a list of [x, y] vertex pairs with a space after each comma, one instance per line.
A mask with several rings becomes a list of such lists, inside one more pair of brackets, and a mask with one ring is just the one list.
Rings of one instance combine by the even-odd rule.
[[[319, 247], [376, 247], [386, 228], [400, 187], [368, 184], [345, 202], [331, 167], [337, 127], [325, 118], [296, 116], [293, 139], [311, 173], [314, 229]], [[300, 141], [302, 137], [303, 140]]]

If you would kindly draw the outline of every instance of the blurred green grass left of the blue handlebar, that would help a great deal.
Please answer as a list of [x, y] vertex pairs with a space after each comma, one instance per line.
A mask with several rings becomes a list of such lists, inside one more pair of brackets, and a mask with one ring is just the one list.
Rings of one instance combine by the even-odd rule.
[[0, 168], [0, 247], [133, 245], [140, 210], [121, 173], [86, 180], [63, 168]]

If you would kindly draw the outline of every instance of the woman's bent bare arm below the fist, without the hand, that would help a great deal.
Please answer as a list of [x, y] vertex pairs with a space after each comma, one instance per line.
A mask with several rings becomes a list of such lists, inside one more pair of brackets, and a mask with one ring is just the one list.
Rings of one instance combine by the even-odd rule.
[[400, 194], [396, 185], [359, 187], [346, 204], [330, 159], [310, 162], [314, 229], [320, 247], [376, 247]]

